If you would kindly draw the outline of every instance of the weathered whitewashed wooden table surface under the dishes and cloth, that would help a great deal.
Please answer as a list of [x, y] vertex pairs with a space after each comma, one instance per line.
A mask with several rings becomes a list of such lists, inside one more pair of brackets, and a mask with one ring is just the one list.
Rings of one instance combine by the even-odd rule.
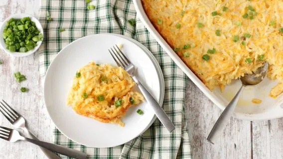
[[[39, 16], [40, 0], [0, 0], [0, 22], [14, 13]], [[1, 37], [0, 37], [1, 38]], [[14, 58], [0, 50], [0, 99], [11, 103], [28, 121], [28, 127], [40, 140], [52, 142], [51, 119], [43, 102], [38, 72], [38, 55]], [[13, 73], [21, 72], [27, 80], [18, 83]], [[20, 87], [29, 88], [20, 92]], [[231, 119], [216, 145], [206, 137], [221, 113], [192, 81], [186, 90], [186, 114], [194, 159], [283, 159], [283, 118], [270, 121]], [[21, 105], [24, 103], [24, 105]], [[0, 125], [10, 123], [0, 115]], [[0, 140], [0, 159], [46, 159], [37, 146], [26, 142]]]

